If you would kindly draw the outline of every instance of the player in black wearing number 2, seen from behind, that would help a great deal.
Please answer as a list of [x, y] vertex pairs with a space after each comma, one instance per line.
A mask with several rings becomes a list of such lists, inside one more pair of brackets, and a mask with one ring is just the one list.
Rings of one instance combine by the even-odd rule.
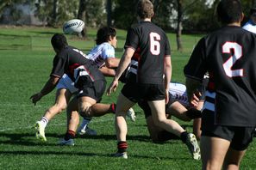
[[209, 72], [203, 106], [203, 169], [239, 169], [256, 125], [256, 37], [240, 27], [239, 0], [222, 0], [223, 27], [200, 39], [184, 67], [189, 96]]

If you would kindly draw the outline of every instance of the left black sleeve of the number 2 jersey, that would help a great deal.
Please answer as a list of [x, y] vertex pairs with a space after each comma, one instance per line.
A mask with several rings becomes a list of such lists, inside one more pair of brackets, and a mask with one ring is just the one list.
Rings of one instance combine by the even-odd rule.
[[206, 73], [205, 65], [205, 43], [203, 38], [199, 40], [190, 56], [188, 64], [184, 66], [184, 76], [202, 81]]

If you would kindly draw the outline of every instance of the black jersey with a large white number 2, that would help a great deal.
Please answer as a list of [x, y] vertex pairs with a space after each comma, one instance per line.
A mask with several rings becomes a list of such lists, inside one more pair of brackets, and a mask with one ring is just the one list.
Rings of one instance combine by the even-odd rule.
[[207, 71], [211, 101], [206, 96], [205, 106], [215, 112], [215, 124], [255, 126], [255, 34], [228, 26], [200, 39], [184, 75], [201, 81]]

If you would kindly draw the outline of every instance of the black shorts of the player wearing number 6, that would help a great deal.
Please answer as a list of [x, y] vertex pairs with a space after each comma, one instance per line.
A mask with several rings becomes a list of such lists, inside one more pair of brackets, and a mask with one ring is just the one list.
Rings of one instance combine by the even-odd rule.
[[127, 82], [122, 88], [122, 94], [135, 103], [140, 100], [164, 100], [165, 85]]

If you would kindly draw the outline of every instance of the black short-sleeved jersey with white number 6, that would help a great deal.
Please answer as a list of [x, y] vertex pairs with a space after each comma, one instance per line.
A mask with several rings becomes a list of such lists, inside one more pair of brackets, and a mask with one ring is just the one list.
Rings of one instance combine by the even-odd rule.
[[[129, 30], [125, 48], [135, 50], [132, 60], [137, 64], [136, 82], [162, 84], [164, 59], [171, 56], [165, 32], [151, 21], [141, 21]], [[132, 64], [133, 66], [133, 64]]]

